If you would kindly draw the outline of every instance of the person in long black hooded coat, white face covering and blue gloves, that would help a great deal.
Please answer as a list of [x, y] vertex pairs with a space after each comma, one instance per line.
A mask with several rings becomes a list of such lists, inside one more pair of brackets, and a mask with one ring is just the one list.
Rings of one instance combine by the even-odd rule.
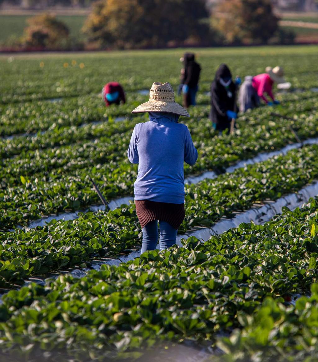
[[211, 112], [210, 119], [215, 130], [220, 132], [231, 127], [231, 120], [237, 118], [236, 87], [240, 78], [235, 82], [232, 73], [226, 64], [221, 64], [215, 73], [211, 84]]

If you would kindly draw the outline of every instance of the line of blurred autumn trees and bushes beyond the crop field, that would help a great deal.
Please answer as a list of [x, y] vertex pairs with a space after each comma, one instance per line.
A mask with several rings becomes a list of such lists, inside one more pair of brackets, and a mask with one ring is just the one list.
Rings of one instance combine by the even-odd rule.
[[[206, 0], [97, 0], [82, 29], [86, 45], [81, 47], [266, 44], [272, 39], [292, 43], [293, 34], [279, 29], [278, 21], [271, 0], [222, 0], [213, 14]], [[43, 49], [69, 49], [71, 43], [69, 29], [51, 14], [31, 18], [22, 38], [24, 46]]]

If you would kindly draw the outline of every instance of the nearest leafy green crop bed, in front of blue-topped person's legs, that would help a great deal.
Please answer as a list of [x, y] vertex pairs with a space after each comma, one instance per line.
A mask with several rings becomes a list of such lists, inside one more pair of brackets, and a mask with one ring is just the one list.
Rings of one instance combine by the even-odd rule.
[[[317, 215], [315, 199], [265, 226], [243, 223], [204, 244], [192, 237], [183, 248], [103, 265], [81, 279], [63, 275], [12, 290], [0, 307], [1, 350], [29, 359], [103, 361], [151, 355], [167, 341], [213, 346], [216, 334], [241, 327], [244, 315], [262, 316], [257, 308], [267, 297], [284, 303], [310, 292], [317, 281]], [[300, 321], [304, 329], [297, 332], [310, 346], [315, 324]], [[285, 336], [275, 337], [284, 350]]]

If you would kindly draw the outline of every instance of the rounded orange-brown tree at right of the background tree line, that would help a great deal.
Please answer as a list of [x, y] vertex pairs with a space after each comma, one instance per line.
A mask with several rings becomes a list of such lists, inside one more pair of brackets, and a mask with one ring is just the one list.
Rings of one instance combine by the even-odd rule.
[[278, 30], [270, 0], [223, 0], [216, 26], [228, 43], [267, 43]]

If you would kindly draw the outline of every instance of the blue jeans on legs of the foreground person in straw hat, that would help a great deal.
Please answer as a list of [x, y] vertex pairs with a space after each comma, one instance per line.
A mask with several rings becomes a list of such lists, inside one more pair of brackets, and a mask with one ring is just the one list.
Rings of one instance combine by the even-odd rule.
[[[176, 243], [178, 230], [174, 229], [165, 221], [159, 220], [160, 250], [170, 248]], [[155, 250], [158, 244], [158, 220], [151, 221], [142, 229], [142, 246], [141, 252]]]

